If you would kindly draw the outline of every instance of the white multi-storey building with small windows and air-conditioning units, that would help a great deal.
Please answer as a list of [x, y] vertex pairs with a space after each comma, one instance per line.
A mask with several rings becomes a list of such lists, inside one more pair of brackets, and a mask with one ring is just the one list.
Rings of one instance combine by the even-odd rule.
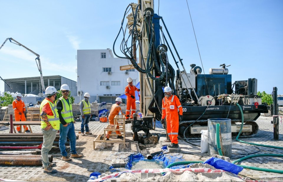
[[133, 85], [139, 82], [139, 72], [135, 69], [120, 71], [120, 66], [129, 65], [127, 59], [114, 58], [111, 49], [78, 50], [78, 96], [91, 95], [90, 101], [115, 103], [116, 97], [124, 94], [127, 78]]

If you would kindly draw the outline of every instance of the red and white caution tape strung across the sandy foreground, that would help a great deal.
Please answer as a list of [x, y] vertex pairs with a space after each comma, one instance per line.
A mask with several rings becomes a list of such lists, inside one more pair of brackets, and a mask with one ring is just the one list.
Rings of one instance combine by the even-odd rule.
[[[191, 171], [191, 172], [196, 172], [196, 173], [222, 173], [222, 172], [227, 172], [221, 169], [210, 169], [210, 168], [181, 168], [181, 169], [170, 169], [170, 168], [165, 168], [165, 169], [139, 169], [139, 170], [127, 170], [127, 171], [120, 171], [117, 173], [113, 173], [107, 176], [104, 176], [102, 178], [97, 178], [93, 180], [88, 180], [88, 181], [104, 181], [106, 179], [111, 179], [111, 178], [116, 178], [117, 176], [121, 175], [122, 173], [163, 173], [163, 172], [170, 172], [170, 171], [175, 171], [175, 172], [182, 172], [182, 171]], [[235, 175], [236, 177], [239, 177]], [[239, 177], [241, 178], [241, 177]], [[244, 178], [241, 178], [245, 180]], [[245, 180], [247, 181], [247, 180]], [[249, 182], [256, 182], [249, 180]]]

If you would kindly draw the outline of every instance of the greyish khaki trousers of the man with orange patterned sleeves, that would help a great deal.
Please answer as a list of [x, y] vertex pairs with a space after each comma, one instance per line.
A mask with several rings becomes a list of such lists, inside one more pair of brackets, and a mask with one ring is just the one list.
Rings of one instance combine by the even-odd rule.
[[57, 130], [51, 128], [45, 131], [41, 128], [41, 133], [43, 134], [43, 143], [41, 148], [41, 156], [42, 156], [42, 166], [43, 168], [48, 168], [49, 159], [48, 159], [48, 152], [51, 150], [53, 142], [56, 138]]

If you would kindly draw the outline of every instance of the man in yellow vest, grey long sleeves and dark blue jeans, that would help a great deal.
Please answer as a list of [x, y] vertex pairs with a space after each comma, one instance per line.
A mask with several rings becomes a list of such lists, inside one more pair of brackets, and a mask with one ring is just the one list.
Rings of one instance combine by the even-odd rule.
[[88, 128], [88, 123], [91, 120], [91, 103], [88, 101], [88, 99], [91, 96], [87, 92], [83, 96], [84, 99], [80, 102], [80, 114], [82, 115], [82, 124], [80, 126], [80, 131], [81, 131], [81, 135], [85, 136], [85, 134], [87, 135], [92, 134]]

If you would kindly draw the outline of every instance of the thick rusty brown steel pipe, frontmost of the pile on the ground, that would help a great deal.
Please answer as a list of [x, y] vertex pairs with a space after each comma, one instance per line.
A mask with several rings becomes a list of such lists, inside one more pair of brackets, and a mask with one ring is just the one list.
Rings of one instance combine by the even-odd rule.
[[40, 157], [0, 157], [1, 166], [42, 166]]

